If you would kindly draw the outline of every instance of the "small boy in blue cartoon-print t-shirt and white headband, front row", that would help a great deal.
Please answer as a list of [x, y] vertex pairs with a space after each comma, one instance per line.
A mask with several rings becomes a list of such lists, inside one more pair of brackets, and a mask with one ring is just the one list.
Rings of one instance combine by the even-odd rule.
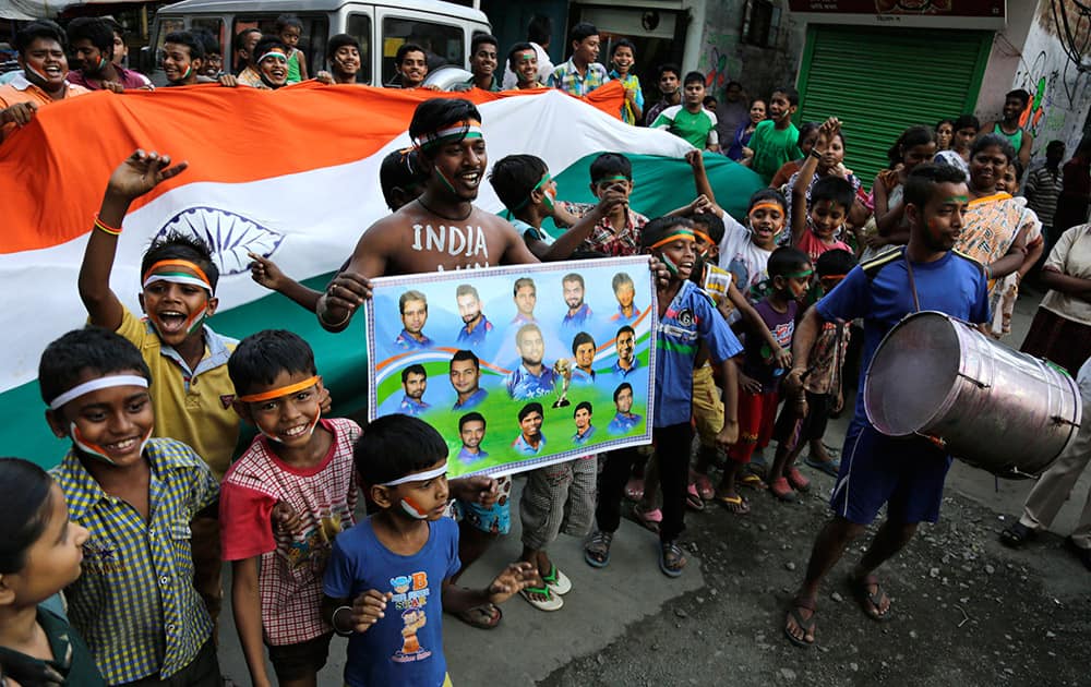
[[536, 581], [533, 566], [514, 563], [488, 589], [451, 584], [460, 564], [458, 526], [444, 517], [447, 445], [423, 421], [379, 418], [355, 460], [379, 511], [337, 537], [326, 566], [323, 615], [349, 637], [345, 684], [448, 684], [443, 611], [506, 601]]

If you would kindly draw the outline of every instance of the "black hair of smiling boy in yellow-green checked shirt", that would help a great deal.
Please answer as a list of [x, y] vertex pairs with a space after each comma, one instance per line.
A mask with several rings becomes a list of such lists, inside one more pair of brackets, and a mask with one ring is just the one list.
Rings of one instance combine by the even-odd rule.
[[48, 406], [93, 372], [105, 377], [134, 372], [152, 383], [152, 371], [129, 339], [101, 327], [73, 329], [51, 341], [38, 363], [38, 388]]

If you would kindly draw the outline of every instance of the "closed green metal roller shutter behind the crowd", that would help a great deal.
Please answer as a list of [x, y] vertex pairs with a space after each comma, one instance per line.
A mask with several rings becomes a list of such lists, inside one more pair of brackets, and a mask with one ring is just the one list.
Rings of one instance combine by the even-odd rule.
[[992, 43], [991, 32], [812, 24], [795, 121], [838, 117], [844, 165], [870, 188], [902, 131], [973, 111]]

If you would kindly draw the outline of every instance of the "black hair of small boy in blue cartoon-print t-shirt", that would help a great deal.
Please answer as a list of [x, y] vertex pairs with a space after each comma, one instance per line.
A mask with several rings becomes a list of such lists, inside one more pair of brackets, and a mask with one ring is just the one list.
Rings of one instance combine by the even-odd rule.
[[420, 472], [447, 457], [447, 443], [420, 418], [375, 418], [356, 442], [352, 462], [364, 485], [385, 484]]

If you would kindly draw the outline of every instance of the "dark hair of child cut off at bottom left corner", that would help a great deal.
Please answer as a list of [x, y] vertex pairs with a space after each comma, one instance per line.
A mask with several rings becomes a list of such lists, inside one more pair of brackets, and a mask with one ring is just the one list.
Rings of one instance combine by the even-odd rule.
[[22, 458], [0, 458], [0, 575], [19, 572], [49, 525], [49, 473]]

